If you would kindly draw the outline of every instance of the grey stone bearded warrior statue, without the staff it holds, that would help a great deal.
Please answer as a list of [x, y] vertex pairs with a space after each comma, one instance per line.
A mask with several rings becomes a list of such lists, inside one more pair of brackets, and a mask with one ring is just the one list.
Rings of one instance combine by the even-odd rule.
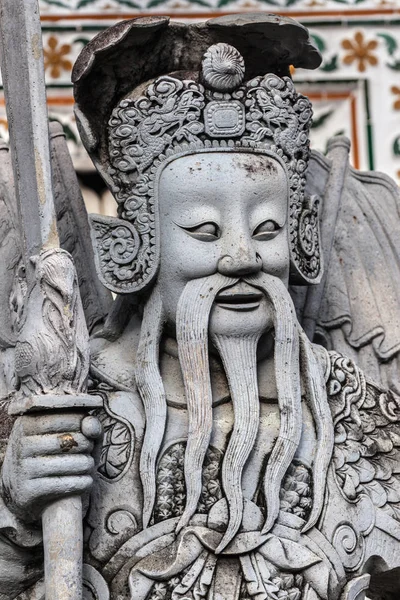
[[[91, 215], [93, 260], [53, 130], [64, 249], [36, 260], [34, 317], [0, 149], [0, 598], [44, 597], [40, 517], [71, 496], [85, 599], [398, 598], [399, 196], [349, 167], [343, 138], [310, 153], [312, 109], [289, 66], [320, 60], [304, 27], [265, 14], [139, 18], [92, 40], [76, 118], [119, 216]], [[84, 391], [59, 300], [79, 301], [67, 250], [102, 399], [89, 416], [84, 401], [45, 410]], [[56, 388], [52, 336], [66, 348]]]

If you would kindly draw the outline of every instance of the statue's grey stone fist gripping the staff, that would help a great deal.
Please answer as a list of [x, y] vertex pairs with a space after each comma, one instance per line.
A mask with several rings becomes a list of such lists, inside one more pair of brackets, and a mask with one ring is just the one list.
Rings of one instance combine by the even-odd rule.
[[83, 412], [24, 415], [14, 423], [3, 463], [3, 496], [25, 522], [52, 501], [83, 495], [93, 483], [96, 417]]

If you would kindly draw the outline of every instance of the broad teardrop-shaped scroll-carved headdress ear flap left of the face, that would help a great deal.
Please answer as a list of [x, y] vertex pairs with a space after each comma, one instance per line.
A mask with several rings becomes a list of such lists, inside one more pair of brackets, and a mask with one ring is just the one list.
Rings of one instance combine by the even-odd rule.
[[156, 273], [154, 252], [128, 221], [89, 215], [96, 270], [112, 292], [131, 294], [143, 290]]

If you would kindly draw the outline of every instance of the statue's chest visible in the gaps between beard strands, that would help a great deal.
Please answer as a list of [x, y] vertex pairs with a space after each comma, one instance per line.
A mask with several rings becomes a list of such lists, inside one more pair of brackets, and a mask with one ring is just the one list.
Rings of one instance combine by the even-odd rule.
[[[197, 507], [208, 514], [212, 506], [224, 497], [222, 464], [234, 426], [230, 402], [213, 410], [213, 430], [202, 470], [202, 491]], [[256, 442], [242, 474], [243, 497], [264, 511], [262, 476], [271, 450], [279, 435], [279, 407], [275, 403], [260, 404], [260, 426]], [[186, 504], [185, 455], [187, 412], [169, 407], [164, 444], [160, 452], [156, 476], [156, 501], [153, 523], [180, 517]], [[305, 450], [306, 453], [306, 450]], [[282, 483], [282, 510], [306, 518], [311, 510], [310, 464], [297, 456]]]

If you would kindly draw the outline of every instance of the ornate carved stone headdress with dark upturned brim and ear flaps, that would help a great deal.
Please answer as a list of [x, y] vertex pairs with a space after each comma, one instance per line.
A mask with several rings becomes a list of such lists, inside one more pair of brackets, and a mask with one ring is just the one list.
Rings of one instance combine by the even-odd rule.
[[[142, 20], [131, 22], [131, 26], [137, 21]], [[103, 283], [118, 293], [132, 293], [150, 285], [159, 263], [158, 177], [169, 161], [187, 154], [214, 151], [265, 153], [281, 163], [290, 184], [292, 282], [318, 282], [322, 271], [318, 199], [306, 197], [304, 193], [311, 104], [296, 92], [288, 74], [289, 64], [315, 68], [320, 63], [306, 30], [294, 21], [270, 15], [220, 18], [197, 26], [175, 24], [170, 49], [172, 58], [169, 69], [164, 70], [168, 59], [157, 56], [157, 44], [160, 27], [165, 23], [158, 20], [155, 24], [153, 20], [150, 24], [146, 21], [146, 27], [142, 24], [141, 34], [144, 28], [147, 38], [150, 25], [156, 29], [153, 34], [158, 35], [152, 47], [156, 48], [156, 57], [152, 60], [157, 69], [154, 67], [151, 73], [152, 69], [147, 67], [146, 72], [143, 64], [141, 77], [136, 77], [136, 85], [130, 89], [126, 90], [126, 81], [115, 85], [118, 75], [113, 75], [114, 80], [110, 76], [110, 66], [115, 66], [118, 60], [115, 58], [118, 43], [121, 61], [126, 58], [127, 48], [132, 53], [126, 29], [123, 35], [120, 31], [114, 32], [118, 43], [115, 36], [110, 40], [110, 33], [103, 43], [96, 38], [93, 47], [86, 47], [75, 67], [76, 114], [81, 135], [119, 205], [118, 219], [92, 217]], [[246, 25], [249, 26], [247, 31]], [[173, 26], [169, 25], [169, 29]], [[130, 31], [128, 29], [128, 33]], [[168, 42], [167, 32], [164, 27], [164, 43]], [[260, 32], [264, 35], [264, 44], [260, 41]], [[197, 36], [193, 49], [194, 40], [187, 39], [189, 33]], [[271, 47], [271, 39], [274, 47]], [[214, 41], [217, 43], [210, 45]], [[188, 44], [187, 57], [182, 55], [185, 43]], [[148, 46], [144, 54], [148, 54]], [[168, 43], [166, 47], [168, 50]], [[174, 60], [177, 48], [179, 59], [175, 56]], [[269, 51], [268, 56], [265, 50]], [[101, 63], [100, 54], [107, 51], [111, 54]], [[137, 46], [133, 52], [137, 58]], [[100, 114], [94, 113], [88, 102], [88, 75], [93, 71], [96, 55], [103, 67], [101, 84], [104, 87], [104, 73], [108, 74], [105, 81], [110, 84], [111, 79], [114, 83], [113, 87], [109, 85], [111, 96], [114, 99], [116, 92], [119, 96], [107, 104], [97, 92]], [[265, 62], [262, 71], [260, 55]], [[137, 70], [136, 64], [135, 72]], [[168, 75], [154, 77], [159, 74], [154, 73], [157, 70]], [[265, 70], [270, 72], [259, 74]], [[150, 73], [153, 77], [146, 77]], [[247, 74], [250, 77], [245, 77]]]

